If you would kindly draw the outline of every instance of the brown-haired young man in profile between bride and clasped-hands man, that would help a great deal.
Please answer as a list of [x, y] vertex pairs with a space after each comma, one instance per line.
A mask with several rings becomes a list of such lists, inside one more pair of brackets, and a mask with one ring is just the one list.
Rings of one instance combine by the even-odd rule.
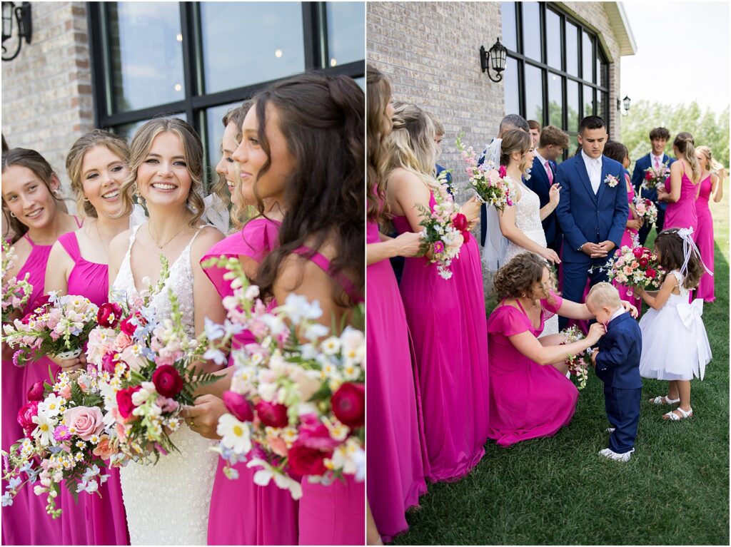
[[[563, 156], [564, 148], [569, 148], [569, 135], [556, 126], [545, 126], [539, 135], [531, 177], [525, 181], [526, 186], [538, 194], [541, 207], [549, 202], [548, 191], [556, 180], [556, 158]], [[548, 247], [561, 253], [563, 237], [556, 220], [556, 211], [543, 219], [542, 224]]]

